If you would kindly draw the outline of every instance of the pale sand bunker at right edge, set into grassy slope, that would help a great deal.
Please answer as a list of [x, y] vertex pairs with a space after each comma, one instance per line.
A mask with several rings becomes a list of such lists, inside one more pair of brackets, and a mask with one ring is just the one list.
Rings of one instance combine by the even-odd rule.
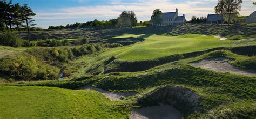
[[192, 66], [213, 70], [217, 72], [230, 72], [237, 73], [239, 75], [250, 75], [256, 76], [256, 71], [241, 69], [236, 66], [232, 66], [230, 63], [227, 63], [227, 58], [209, 58], [203, 59], [199, 62], [190, 63]]

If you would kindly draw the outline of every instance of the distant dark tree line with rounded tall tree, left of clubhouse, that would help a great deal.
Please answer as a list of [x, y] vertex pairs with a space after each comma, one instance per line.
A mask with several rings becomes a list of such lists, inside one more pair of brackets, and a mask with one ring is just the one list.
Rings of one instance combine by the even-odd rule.
[[137, 25], [149, 25], [149, 22], [138, 23], [136, 14], [133, 11], [123, 11], [118, 18], [99, 21], [97, 19], [88, 21], [86, 23], [67, 24], [66, 26], [49, 26], [48, 29], [62, 29], [62, 28], [86, 28], [91, 27], [95, 29], [110, 29], [110, 28], [124, 28]]

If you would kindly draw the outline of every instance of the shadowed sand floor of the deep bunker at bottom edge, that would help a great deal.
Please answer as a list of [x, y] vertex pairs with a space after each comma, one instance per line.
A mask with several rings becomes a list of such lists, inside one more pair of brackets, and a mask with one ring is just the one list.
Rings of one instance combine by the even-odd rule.
[[131, 119], [139, 118], [181, 118], [179, 110], [170, 105], [160, 104], [160, 106], [149, 106], [140, 109], [133, 109], [130, 114]]

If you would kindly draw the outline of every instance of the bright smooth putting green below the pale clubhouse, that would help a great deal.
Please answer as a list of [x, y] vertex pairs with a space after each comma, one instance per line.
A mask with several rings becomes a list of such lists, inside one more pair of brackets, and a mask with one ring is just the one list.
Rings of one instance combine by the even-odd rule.
[[[120, 37], [138, 37], [142, 35], [126, 34]], [[144, 60], [173, 54], [190, 53], [215, 47], [232, 46], [233, 44], [231, 40], [220, 40], [219, 38], [214, 38], [214, 36], [196, 34], [180, 36], [151, 35], [145, 39], [145, 41], [137, 42], [132, 46], [114, 48], [100, 55], [116, 56], [120, 59]]]

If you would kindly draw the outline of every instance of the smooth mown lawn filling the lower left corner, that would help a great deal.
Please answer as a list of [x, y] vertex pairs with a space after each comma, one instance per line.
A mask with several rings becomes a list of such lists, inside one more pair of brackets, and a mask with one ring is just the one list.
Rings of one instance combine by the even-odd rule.
[[124, 102], [93, 90], [53, 87], [0, 87], [1, 118], [125, 118]]

